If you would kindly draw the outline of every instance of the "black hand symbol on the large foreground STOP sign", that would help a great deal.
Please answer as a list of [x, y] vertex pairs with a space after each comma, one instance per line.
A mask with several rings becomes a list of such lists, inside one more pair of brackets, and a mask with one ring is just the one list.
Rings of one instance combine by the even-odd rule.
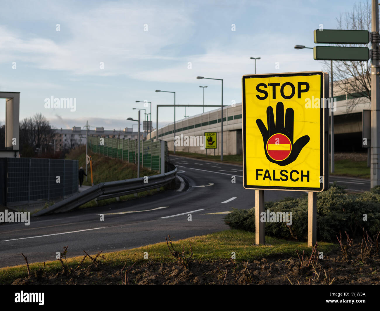
[[[284, 125], [284, 105], [280, 101], [277, 103], [276, 106], [276, 123], [274, 123], [273, 108], [271, 106], [269, 106], [266, 109], [266, 118], [268, 122], [268, 129], [266, 129], [263, 121], [261, 121], [260, 119], [256, 120], [256, 124], [260, 129], [261, 135], [263, 136], [266, 158], [272, 163], [279, 164], [280, 166], [285, 166], [289, 163], [292, 163], [298, 157], [302, 148], [305, 147], [305, 145], [310, 141], [310, 137], [308, 135], [302, 136], [301, 138], [297, 139], [297, 141], [293, 144], [294, 111], [292, 108], [288, 108], [286, 110]], [[271, 137], [274, 134], [284, 134], [290, 140], [291, 153], [286, 159], [282, 161], [276, 161], [268, 155], [266, 144], [268, 142], [269, 137]]]

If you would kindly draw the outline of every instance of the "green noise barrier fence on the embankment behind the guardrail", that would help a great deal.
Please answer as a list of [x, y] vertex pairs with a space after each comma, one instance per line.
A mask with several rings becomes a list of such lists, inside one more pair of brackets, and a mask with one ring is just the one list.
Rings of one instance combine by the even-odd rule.
[[[88, 136], [88, 147], [94, 153], [137, 164], [137, 139], [131, 140], [130, 138], [119, 139]], [[167, 156], [168, 143], [165, 142], [165, 162]], [[140, 141], [140, 165], [161, 172], [161, 141]]]

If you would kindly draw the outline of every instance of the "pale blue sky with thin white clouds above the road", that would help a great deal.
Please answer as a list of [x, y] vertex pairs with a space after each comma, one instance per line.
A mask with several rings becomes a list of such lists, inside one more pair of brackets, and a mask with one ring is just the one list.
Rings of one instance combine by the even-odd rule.
[[[132, 108], [144, 108], [135, 101], [148, 100], [155, 126], [156, 104], [173, 104], [173, 94], [157, 89], [176, 92], [177, 104], [201, 104], [199, 85], [207, 85], [205, 103], [220, 104], [220, 81], [196, 76], [224, 79], [224, 104], [240, 103], [241, 76], [254, 73], [251, 56], [261, 57], [257, 73], [321, 70], [312, 50], [293, 47], [315, 46], [313, 30], [320, 24], [336, 29], [336, 17], [354, 3], [2, 1], [0, 91], [21, 92], [20, 119], [39, 112], [57, 128], [82, 127], [86, 120], [106, 129], [131, 127], [125, 119], [137, 118]], [[51, 96], [76, 98], [76, 111], [45, 109]], [[184, 115], [176, 109], [177, 120]], [[160, 108], [159, 125], [170, 122], [173, 109]]]

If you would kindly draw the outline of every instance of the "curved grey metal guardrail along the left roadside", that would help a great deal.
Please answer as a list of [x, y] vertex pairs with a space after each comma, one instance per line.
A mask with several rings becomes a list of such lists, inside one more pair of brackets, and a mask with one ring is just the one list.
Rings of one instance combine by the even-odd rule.
[[32, 216], [41, 216], [48, 213], [62, 213], [79, 207], [93, 199], [104, 200], [111, 197], [125, 196], [127, 194], [138, 193], [149, 189], [160, 188], [171, 182], [177, 176], [177, 168], [170, 172], [148, 176], [148, 182], [144, 183], [144, 177], [118, 180], [116, 182], [99, 183], [86, 189], [81, 193], [74, 194], [67, 199], [55, 203], [43, 210], [34, 213]]

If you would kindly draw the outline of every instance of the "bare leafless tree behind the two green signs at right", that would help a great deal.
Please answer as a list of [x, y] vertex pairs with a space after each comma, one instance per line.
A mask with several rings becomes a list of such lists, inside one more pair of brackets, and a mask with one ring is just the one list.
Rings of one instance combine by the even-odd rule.
[[[337, 28], [344, 30], [368, 30], [371, 32], [371, 5], [366, 3], [354, 4], [352, 11], [340, 14]], [[371, 47], [371, 44], [330, 44], [331, 46]], [[347, 94], [352, 99], [347, 112], [358, 104], [359, 98], [371, 98], [370, 60], [368, 61], [333, 61], [334, 87], [337, 91]], [[324, 61], [324, 70], [330, 72], [330, 61]]]

